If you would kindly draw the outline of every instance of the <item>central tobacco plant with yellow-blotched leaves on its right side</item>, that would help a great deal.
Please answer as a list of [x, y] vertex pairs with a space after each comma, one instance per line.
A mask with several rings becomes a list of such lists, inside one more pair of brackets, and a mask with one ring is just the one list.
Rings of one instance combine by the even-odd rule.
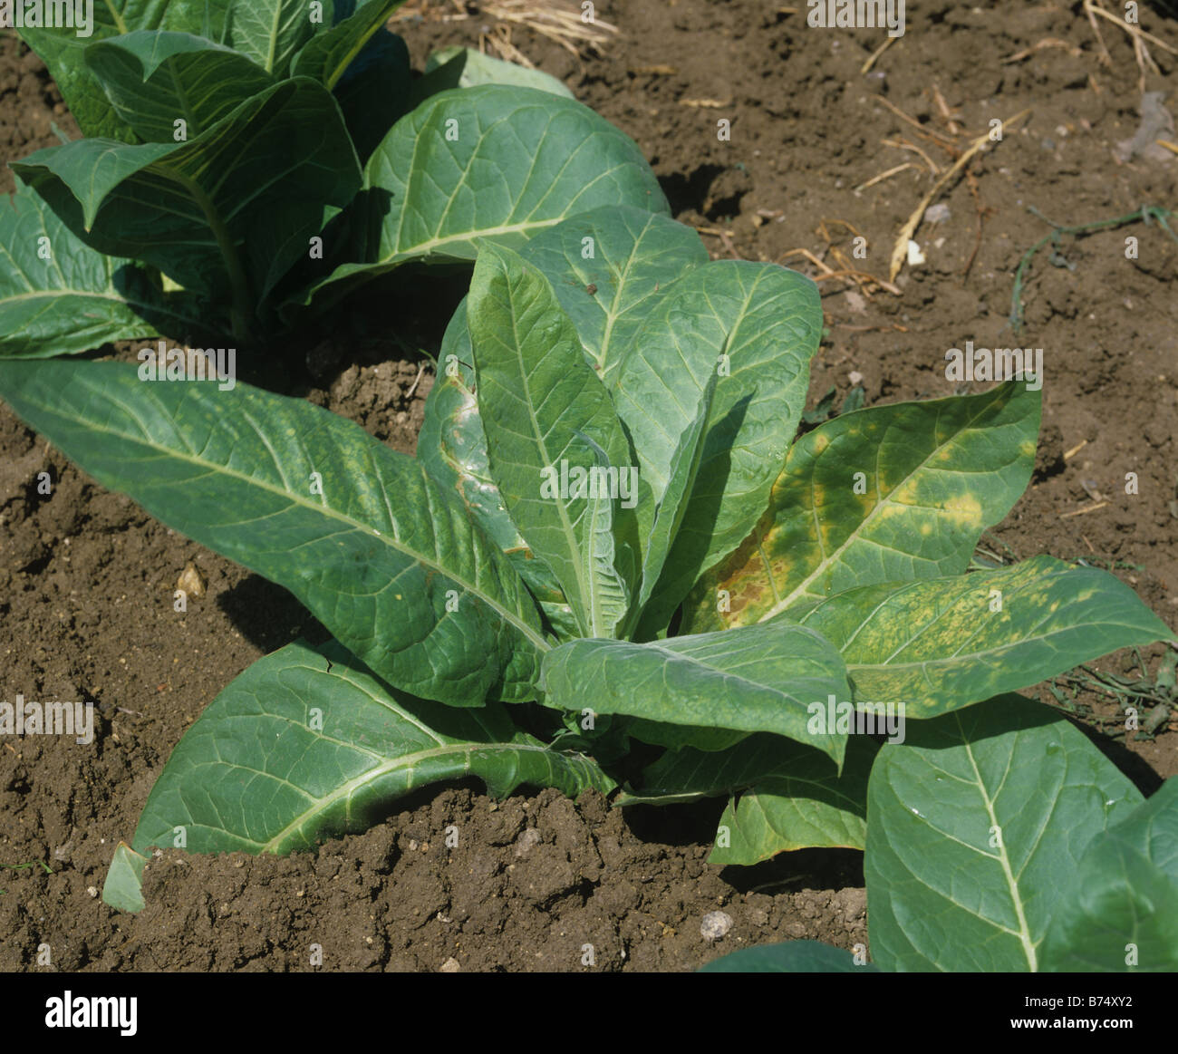
[[965, 708], [1170, 636], [1096, 569], [965, 574], [1030, 478], [1025, 384], [798, 438], [821, 329], [809, 279], [610, 207], [483, 244], [416, 458], [246, 385], [0, 363], [85, 471], [336, 638], [207, 707], [107, 902], [141, 906], [153, 846], [307, 848], [466, 775], [609, 791], [634, 742], [663, 751], [623, 803], [729, 796], [714, 861], [863, 848], [879, 748], [854, 708], [899, 709], [909, 740], [969, 728]]

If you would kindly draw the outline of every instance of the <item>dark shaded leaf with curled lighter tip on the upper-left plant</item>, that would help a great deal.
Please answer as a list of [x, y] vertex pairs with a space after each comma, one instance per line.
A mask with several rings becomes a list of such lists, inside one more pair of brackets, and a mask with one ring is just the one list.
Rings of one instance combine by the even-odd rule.
[[339, 107], [309, 78], [253, 97], [185, 144], [82, 139], [13, 168], [92, 248], [217, 297], [251, 286], [264, 296], [306, 254], [325, 206], [348, 204], [360, 181]]

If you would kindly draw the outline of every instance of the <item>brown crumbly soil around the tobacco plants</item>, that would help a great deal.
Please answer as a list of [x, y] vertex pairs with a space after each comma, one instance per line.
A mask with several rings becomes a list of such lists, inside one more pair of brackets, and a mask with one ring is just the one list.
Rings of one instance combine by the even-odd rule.
[[[496, 27], [476, 4], [466, 18], [455, 12], [403, 8], [396, 28], [418, 68], [431, 49], [477, 46]], [[906, 34], [865, 74], [881, 31], [810, 29], [776, 5], [615, 0], [598, 12], [618, 28], [602, 54], [574, 58], [518, 26], [510, 39], [638, 141], [676, 217], [714, 256], [820, 279], [829, 337], [810, 405], [832, 386], [840, 404], [856, 385], [868, 404], [949, 395], [944, 357], [965, 340], [1043, 347], [1039, 465], [990, 548], [1108, 566], [1178, 625], [1178, 244], [1140, 223], [1065, 238], [1057, 265], [1050, 247], [1033, 260], [1025, 330], [1008, 321], [1019, 260], [1050, 232], [1028, 206], [1078, 225], [1176, 201], [1178, 158], [1118, 153], [1140, 120], [1127, 35], [1105, 24], [1101, 65], [1078, 5], [909, 2]], [[1173, 21], [1144, 6], [1143, 19], [1178, 44]], [[1144, 88], [1172, 92], [1174, 57], [1151, 51], [1162, 72]], [[1024, 110], [1021, 124], [1010, 120]], [[906, 140], [945, 171], [955, 155], [939, 141], [959, 154], [993, 118], [1007, 122], [1002, 140], [938, 195], [948, 214], [918, 228], [927, 263], [905, 266], [895, 293], [821, 277], [795, 252], [838, 272], [838, 250], [886, 279], [896, 234], [933, 183], [920, 153], [888, 144]], [[45, 67], [0, 34], [0, 160], [57, 142], [54, 122], [78, 134]], [[0, 190], [12, 186], [0, 170]], [[854, 257], [856, 232], [866, 258]], [[1139, 240], [1136, 259], [1127, 237]], [[461, 283], [441, 285], [390, 294], [383, 318], [398, 337], [300, 349], [305, 370], [260, 383], [412, 451], [432, 383], [416, 349], [437, 346], [461, 296]], [[42, 471], [49, 495], [37, 486]], [[1127, 472], [1137, 493], [1126, 493]], [[172, 590], [188, 562], [207, 588], [178, 617]], [[113, 847], [185, 728], [254, 659], [319, 634], [284, 590], [104, 491], [0, 406], [0, 698], [92, 701], [98, 716], [91, 747], [0, 742], [0, 969], [45, 969], [46, 944], [48, 967], [64, 970], [515, 972], [686, 970], [752, 943], [866, 942], [860, 854], [719, 868], [706, 863], [719, 802], [623, 813], [596, 794], [495, 802], [476, 784], [421, 791], [317, 854], [166, 851], [145, 875], [147, 908], [108, 909], [98, 894]], [[1143, 651], [1151, 671], [1162, 654]], [[1118, 654], [1093, 665], [1126, 672], [1133, 662]], [[1154, 738], [1113, 743], [1096, 729], [1116, 704], [1090, 691], [1079, 703], [1084, 725], [1144, 790], [1178, 773], [1173, 720]], [[733, 920], [715, 942], [700, 929], [713, 910]]]

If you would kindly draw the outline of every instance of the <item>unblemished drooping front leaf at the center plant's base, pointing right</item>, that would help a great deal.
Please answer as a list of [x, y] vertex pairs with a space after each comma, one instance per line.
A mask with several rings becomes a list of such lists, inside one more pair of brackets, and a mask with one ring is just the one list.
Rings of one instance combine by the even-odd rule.
[[849, 698], [838, 651], [805, 627], [773, 623], [650, 644], [569, 641], [544, 656], [548, 704], [668, 724], [770, 731], [840, 765], [847, 736], [812, 731], [809, 705]]

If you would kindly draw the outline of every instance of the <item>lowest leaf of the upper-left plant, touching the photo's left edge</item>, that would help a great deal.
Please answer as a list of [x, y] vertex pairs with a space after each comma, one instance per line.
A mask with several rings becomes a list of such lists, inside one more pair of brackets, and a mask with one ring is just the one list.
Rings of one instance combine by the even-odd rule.
[[84, 245], [18, 181], [0, 203], [0, 356], [46, 358], [108, 340], [187, 332], [191, 297], [165, 293], [133, 260]]

